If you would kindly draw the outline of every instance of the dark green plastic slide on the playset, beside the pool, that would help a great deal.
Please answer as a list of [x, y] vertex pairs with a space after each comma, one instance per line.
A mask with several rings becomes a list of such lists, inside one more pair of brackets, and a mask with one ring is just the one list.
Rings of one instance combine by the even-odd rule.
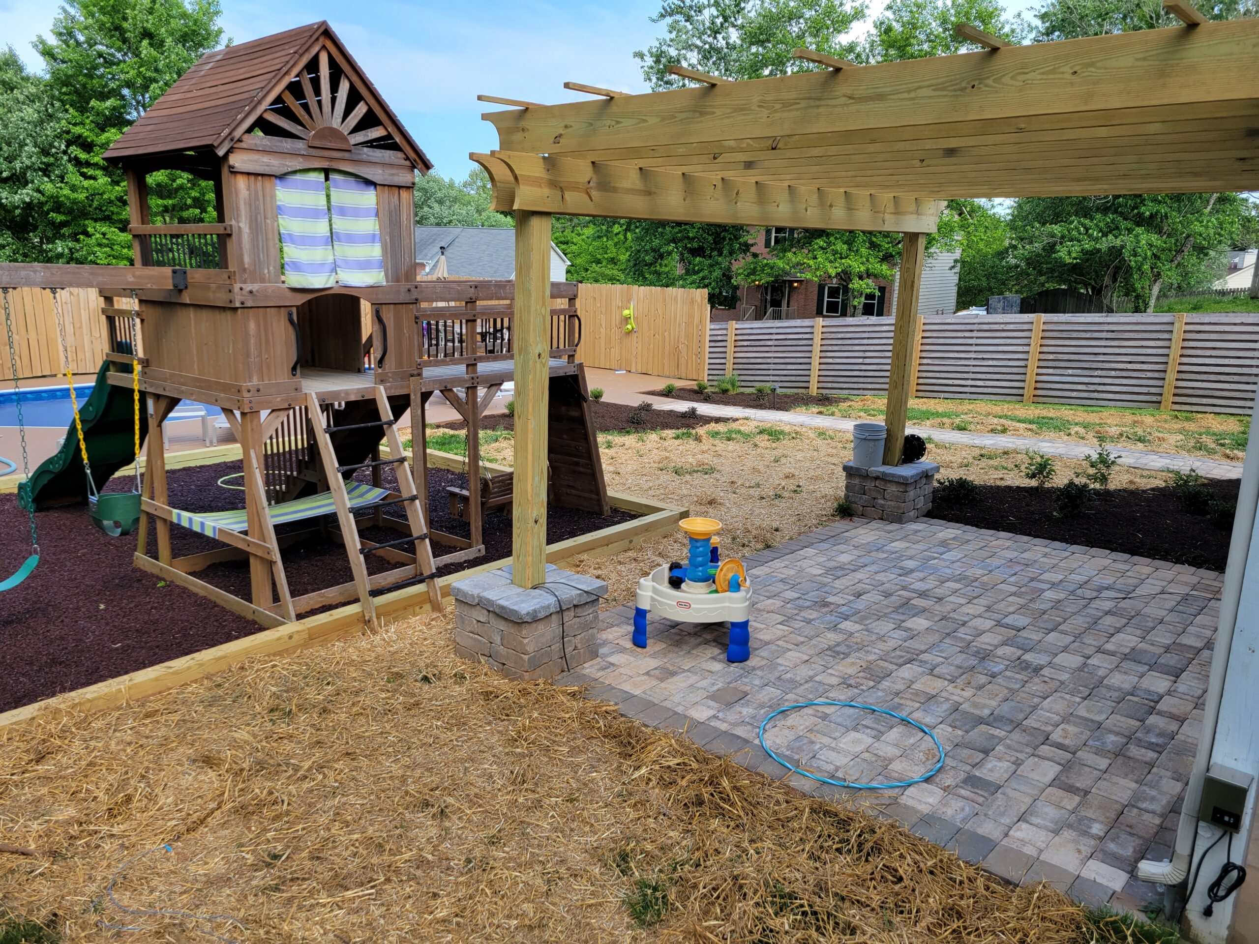
[[[96, 373], [96, 386], [86, 402], [79, 403], [79, 418], [83, 420], [83, 439], [87, 443], [87, 457], [92, 463], [92, 480], [97, 490], [104, 487], [110, 477], [136, 458], [135, 451], [135, 404], [131, 386], [115, 386], [106, 380], [111, 370], [125, 373], [128, 379], [131, 368], [126, 364], [104, 361]], [[141, 398], [141, 409], [144, 399]], [[149, 423], [141, 415], [140, 442], [144, 444]], [[54, 456], [42, 462], [30, 478], [18, 486], [18, 503], [23, 509], [34, 505], [40, 511], [54, 505], [71, 505], [87, 501], [87, 477], [83, 475], [83, 458], [79, 456], [78, 433], [71, 422], [65, 432], [65, 442]]]

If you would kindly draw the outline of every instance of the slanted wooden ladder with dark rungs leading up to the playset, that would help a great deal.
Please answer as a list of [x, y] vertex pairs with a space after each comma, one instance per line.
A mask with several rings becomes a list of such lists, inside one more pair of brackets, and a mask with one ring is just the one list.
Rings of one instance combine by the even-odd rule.
[[[363, 602], [364, 621], [373, 628], [378, 626], [375, 607], [376, 597], [421, 583], [428, 584], [428, 600], [433, 607], [433, 612], [439, 613], [442, 610], [442, 594], [437, 585], [437, 575], [434, 573], [437, 566], [433, 560], [433, 549], [428, 540], [428, 529], [424, 525], [424, 512], [419, 501], [421, 496], [415, 492], [415, 482], [410, 475], [410, 468], [407, 464], [407, 453], [402, 448], [402, 441], [398, 439], [398, 430], [394, 428], [395, 420], [393, 410], [389, 408], [389, 398], [385, 396], [384, 388], [379, 384], [375, 386], [376, 409], [380, 413], [380, 419], [371, 423], [356, 423], [354, 427], [325, 427], [324, 412], [320, 407], [319, 396], [313, 393], [308, 393], [306, 396], [307, 409], [310, 413], [310, 428], [315, 437], [315, 443], [319, 447], [320, 462], [324, 466], [324, 475], [327, 478], [329, 491], [332, 493], [332, 503], [336, 506], [336, 520], [341, 530], [342, 540], [345, 541], [346, 554], [350, 558], [350, 570], [354, 573], [354, 583], [359, 589], [359, 599]], [[369, 459], [368, 462], [360, 462], [353, 466], [339, 466], [330, 434], [336, 432], [339, 428], [350, 429], [369, 425], [384, 429], [385, 439], [389, 443], [389, 458]], [[384, 498], [370, 505], [360, 505], [358, 509], [351, 510], [350, 496], [345, 490], [345, 478], [342, 478], [342, 473], [353, 473], [360, 468], [375, 468], [380, 466], [393, 466], [397, 471], [398, 497]], [[363, 539], [359, 536], [359, 526], [355, 521], [354, 511], [374, 511], [389, 505], [402, 505], [405, 507], [407, 522], [410, 526], [410, 535], [408, 537], [399, 537], [398, 540], [384, 541], [381, 544], [371, 544], [370, 541], [364, 544]], [[402, 548], [403, 545], [413, 545], [415, 558], [413, 564], [408, 564], [404, 568], [397, 568], [383, 574], [376, 574], [375, 576], [368, 575], [368, 568], [364, 560], [368, 554], [390, 548]]]

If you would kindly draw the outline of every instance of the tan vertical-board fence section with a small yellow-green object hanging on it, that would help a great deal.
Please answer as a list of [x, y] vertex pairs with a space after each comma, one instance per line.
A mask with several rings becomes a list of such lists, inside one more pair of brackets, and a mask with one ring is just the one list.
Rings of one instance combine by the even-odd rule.
[[[643, 288], [582, 283], [577, 295], [582, 344], [592, 368], [699, 380], [708, 373], [709, 303], [703, 288]], [[633, 330], [626, 331], [633, 312]]]

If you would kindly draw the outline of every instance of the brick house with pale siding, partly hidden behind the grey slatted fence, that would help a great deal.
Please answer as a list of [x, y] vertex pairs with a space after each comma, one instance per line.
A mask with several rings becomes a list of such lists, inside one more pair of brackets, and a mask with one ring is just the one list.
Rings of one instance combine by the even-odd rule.
[[[768, 227], [752, 252], [764, 256], [778, 239], [787, 238], [786, 228]], [[923, 315], [952, 315], [957, 311], [957, 278], [959, 250], [933, 253], [923, 263], [923, 281], [918, 293], [918, 311]], [[874, 279], [875, 291], [859, 298], [851, 315], [881, 317], [895, 311], [896, 282]], [[737, 308], [715, 308], [714, 321], [763, 321], [777, 318], [842, 317], [850, 312], [846, 286], [827, 284], [807, 278], [782, 278], [774, 282], [742, 286]]]

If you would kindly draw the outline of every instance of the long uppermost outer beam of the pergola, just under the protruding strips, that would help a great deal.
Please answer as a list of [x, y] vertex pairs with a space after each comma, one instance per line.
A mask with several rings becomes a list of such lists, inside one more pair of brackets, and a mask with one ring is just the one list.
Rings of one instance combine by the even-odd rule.
[[[820, 136], [891, 143], [929, 138], [963, 116], [988, 133], [1074, 127], [1088, 141], [1126, 115], [1255, 118], [1256, 48], [1259, 19], [1245, 19], [879, 63], [845, 72], [838, 84], [831, 73], [801, 72], [490, 120], [504, 150], [585, 160], [714, 155], [750, 142], [769, 155]], [[1192, 183], [1192, 169], [1180, 176]], [[1087, 176], [1074, 183], [1076, 193], [1103, 193]]]

